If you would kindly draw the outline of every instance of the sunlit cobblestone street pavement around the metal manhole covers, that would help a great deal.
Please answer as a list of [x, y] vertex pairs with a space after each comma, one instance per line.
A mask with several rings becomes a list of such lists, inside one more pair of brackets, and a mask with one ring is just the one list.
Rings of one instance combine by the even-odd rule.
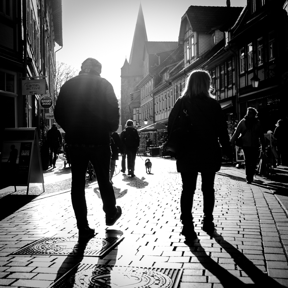
[[[278, 283], [288, 287], [288, 218], [273, 186], [260, 177], [247, 184], [243, 170], [222, 167], [215, 178], [217, 230], [208, 235], [202, 231], [199, 175], [193, 203], [198, 239], [186, 244], [180, 235], [182, 184], [176, 162], [150, 159], [151, 174], [145, 172], [145, 159], [137, 157], [136, 177], [121, 173], [113, 177], [117, 205], [123, 213], [111, 228], [105, 225], [97, 183], [86, 188], [89, 224], [96, 236], [110, 232], [125, 237], [104, 257], [12, 255], [43, 237], [78, 235], [69, 192], [39, 195], [1, 220], [0, 288], [48, 287], [79, 262], [182, 268], [180, 288], [278, 287]], [[57, 191], [63, 187], [55, 186]]]

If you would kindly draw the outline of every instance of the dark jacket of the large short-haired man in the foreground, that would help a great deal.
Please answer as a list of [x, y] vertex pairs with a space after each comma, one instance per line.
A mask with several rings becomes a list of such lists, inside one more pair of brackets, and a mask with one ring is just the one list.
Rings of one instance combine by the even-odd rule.
[[94, 70], [80, 71], [61, 87], [54, 109], [67, 144], [111, 143], [119, 126], [119, 107], [112, 85]]

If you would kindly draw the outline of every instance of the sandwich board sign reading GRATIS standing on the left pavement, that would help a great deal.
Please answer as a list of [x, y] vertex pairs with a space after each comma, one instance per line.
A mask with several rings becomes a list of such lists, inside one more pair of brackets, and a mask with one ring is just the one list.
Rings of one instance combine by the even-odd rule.
[[6, 186], [27, 186], [42, 183], [38, 134], [36, 128], [5, 128], [1, 153], [0, 175]]

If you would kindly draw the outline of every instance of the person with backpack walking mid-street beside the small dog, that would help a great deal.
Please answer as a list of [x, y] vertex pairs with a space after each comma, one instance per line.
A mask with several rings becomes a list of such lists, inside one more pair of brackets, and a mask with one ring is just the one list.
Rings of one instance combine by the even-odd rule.
[[135, 159], [137, 148], [140, 145], [140, 138], [138, 135], [138, 131], [134, 128], [134, 122], [132, 120], [127, 120], [126, 125], [127, 128], [123, 131], [121, 140], [126, 147], [128, 169], [127, 176], [135, 177]]

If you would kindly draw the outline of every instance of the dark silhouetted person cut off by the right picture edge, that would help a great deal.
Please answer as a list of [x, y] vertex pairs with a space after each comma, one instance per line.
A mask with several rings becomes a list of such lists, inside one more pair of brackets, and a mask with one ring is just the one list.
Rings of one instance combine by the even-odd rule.
[[274, 138], [279, 155], [277, 165], [288, 165], [288, 128], [282, 119], [279, 119], [275, 126]]

